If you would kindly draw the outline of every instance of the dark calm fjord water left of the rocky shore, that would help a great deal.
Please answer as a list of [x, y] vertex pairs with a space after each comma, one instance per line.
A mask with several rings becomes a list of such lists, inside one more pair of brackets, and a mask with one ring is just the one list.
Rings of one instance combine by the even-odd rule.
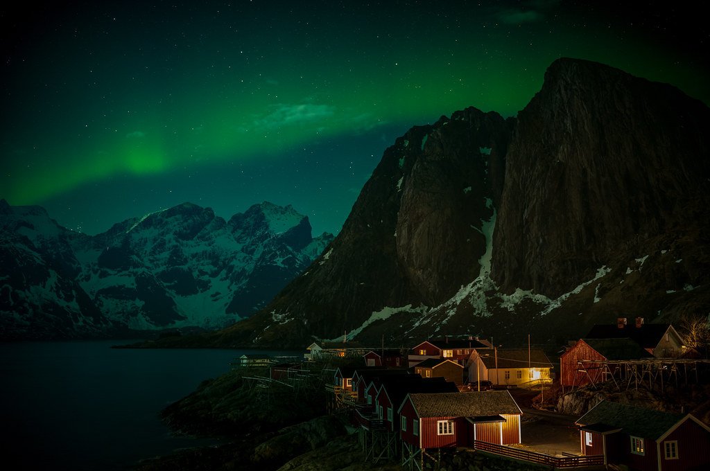
[[5, 469], [123, 470], [214, 443], [172, 436], [158, 414], [235, 358], [256, 353], [111, 348], [116, 343], [124, 342], [0, 344], [2, 462], [13, 464]]

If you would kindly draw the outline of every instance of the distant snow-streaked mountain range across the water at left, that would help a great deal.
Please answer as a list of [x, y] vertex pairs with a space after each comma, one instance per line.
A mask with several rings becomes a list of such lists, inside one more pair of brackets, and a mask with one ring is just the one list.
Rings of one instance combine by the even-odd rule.
[[264, 202], [229, 221], [185, 203], [85, 235], [0, 201], [0, 337], [221, 328], [251, 316], [332, 240]]

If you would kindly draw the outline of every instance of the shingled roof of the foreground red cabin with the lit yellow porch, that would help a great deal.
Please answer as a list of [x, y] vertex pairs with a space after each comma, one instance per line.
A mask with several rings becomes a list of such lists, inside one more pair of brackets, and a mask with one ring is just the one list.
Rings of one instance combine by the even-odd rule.
[[522, 414], [508, 391], [425, 393], [409, 394], [408, 397], [420, 419]]

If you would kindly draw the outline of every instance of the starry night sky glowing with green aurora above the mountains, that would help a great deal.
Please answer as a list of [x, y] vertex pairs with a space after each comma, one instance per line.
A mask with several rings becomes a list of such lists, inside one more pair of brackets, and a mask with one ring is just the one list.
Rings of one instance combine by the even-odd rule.
[[337, 233], [398, 135], [515, 116], [557, 57], [710, 103], [696, 2], [42, 3], [0, 7], [0, 198], [89, 234], [184, 201]]

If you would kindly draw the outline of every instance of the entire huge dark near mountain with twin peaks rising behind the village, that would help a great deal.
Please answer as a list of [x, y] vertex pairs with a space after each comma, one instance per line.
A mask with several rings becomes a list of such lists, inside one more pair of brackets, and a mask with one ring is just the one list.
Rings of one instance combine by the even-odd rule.
[[398, 138], [326, 252], [209, 341], [560, 342], [706, 314], [708, 129], [674, 87], [557, 60], [515, 119], [469, 108]]

